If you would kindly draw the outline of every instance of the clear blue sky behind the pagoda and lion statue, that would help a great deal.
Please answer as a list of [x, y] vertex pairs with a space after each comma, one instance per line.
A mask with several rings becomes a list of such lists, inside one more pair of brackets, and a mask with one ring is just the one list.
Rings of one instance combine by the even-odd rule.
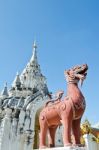
[[16, 72], [26, 66], [32, 43], [38, 44], [38, 61], [48, 88], [66, 93], [64, 70], [87, 63], [82, 87], [87, 101], [83, 120], [99, 122], [99, 1], [0, 1], [0, 89], [10, 88]]

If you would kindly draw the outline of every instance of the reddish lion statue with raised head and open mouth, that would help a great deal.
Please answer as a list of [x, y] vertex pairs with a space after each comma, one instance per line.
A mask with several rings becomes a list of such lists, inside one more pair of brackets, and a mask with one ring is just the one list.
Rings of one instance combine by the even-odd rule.
[[[46, 135], [48, 131], [49, 147], [55, 147], [55, 132], [59, 125], [63, 125], [63, 143], [64, 146], [80, 145], [80, 122], [85, 111], [85, 98], [78, 87], [86, 78], [88, 66], [73, 67], [65, 70], [64, 74], [67, 81], [67, 94], [61, 100], [63, 91], [58, 92], [58, 98], [48, 101], [40, 112], [40, 140], [39, 148], [46, 148]], [[73, 143], [71, 142], [71, 132], [73, 134]]]

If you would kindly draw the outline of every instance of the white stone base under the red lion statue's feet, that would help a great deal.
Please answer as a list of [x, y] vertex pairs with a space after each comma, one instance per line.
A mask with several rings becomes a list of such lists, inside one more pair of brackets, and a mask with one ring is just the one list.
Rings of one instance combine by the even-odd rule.
[[71, 147], [71, 146], [67, 146], [67, 147], [46, 148], [46, 149], [41, 149], [41, 150], [87, 150], [87, 148], [86, 147]]

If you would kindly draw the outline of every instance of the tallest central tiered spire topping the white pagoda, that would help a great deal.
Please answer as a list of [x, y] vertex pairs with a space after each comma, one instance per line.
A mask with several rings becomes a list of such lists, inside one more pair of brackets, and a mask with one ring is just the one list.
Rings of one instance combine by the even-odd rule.
[[45, 86], [45, 77], [41, 73], [40, 65], [37, 58], [37, 44], [33, 43], [32, 57], [25, 69], [21, 73], [20, 80], [22, 86], [26, 89], [40, 89]]

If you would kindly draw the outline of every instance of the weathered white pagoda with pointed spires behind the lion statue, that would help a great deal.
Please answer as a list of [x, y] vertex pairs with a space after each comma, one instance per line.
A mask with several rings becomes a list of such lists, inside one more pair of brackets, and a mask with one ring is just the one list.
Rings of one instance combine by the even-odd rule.
[[38, 114], [48, 99], [46, 78], [37, 60], [37, 45], [23, 72], [0, 94], [0, 150], [32, 150], [38, 145]]

